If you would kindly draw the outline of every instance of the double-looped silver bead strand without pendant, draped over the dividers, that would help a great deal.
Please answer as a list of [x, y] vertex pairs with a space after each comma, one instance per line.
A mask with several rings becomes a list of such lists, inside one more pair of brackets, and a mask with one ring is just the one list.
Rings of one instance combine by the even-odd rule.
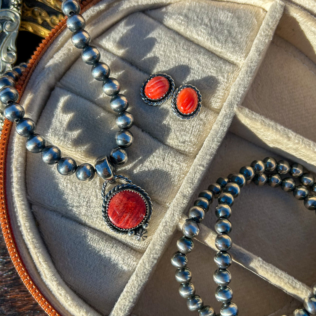
[[[295, 179], [283, 175], [289, 174], [293, 178], [298, 178], [300, 184], [296, 185]], [[282, 176], [282, 177], [281, 177]], [[250, 166], [240, 168], [239, 173], [229, 174], [228, 177], [221, 177], [216, 183], [211, 184], [207, 190], [203, 190], [198, 195], [194, 206], [189, 209], [189, 218], [182, 226], [184, 236], [177, 241], [178, 251], [171, 258], [171, 263], [177, 268], [175, 277], [181, 283], [179, 294], [186, 299], [187, 307], [191, 311], [198, 311], [199, 316], [237, 316], [238, 307], [231, 300], [233, 291], [228, 286], [231, 281], [231, 274], [227, 268], [232, 263], [232, 257], [228, 250], [233, 242], [229, 236], [232, 226], [228, 218], [231, 216], [231, 207], [234, 198], [238, 197], [241, 188], [254, 182], [262, 186], [268, 183], [271, 187], [280, 186], [285, 192], [292, 192], [298, 200], [303, 200], [308, 210], [316, 210], [316, 184], [312, 173], [304, 172], [301, 164], [288, 161], [276, 160], [266, 157], [262, 161], [252, 161]], [[219, 250], [214, 256], [214, 261], [218, 269], [213, 274], [213, 279], [218, 285], [215, 291], [216, 300], [222, 303], [220, 313], [216, 314], [213, 307], [204, 306], [199, 295], [195, 295], [194, 285], [190, 282], [191, 270], [187, 267], [187, 254], [193, 250], [193, 238], [200, 232], [199, 223], [204, 219], [205, 213], [209, 210], [214, 199], [218, 200], [215, 214], [218, 220], [215, 223], [217, 233], [215, 246]], [[316, 211], [315, 211], [316, 213]], [[304, 308], [298, 308], [293, 312], [293, 316], [309, 316], [316, 314], [316, 284], [313, 286], [313, 295], [304, 300]], [[283, 315], [287, 316], [287, 315]]]

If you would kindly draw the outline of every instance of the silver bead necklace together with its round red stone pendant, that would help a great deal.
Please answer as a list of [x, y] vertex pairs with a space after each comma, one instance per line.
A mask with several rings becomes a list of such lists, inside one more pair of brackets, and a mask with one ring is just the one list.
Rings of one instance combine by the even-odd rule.
[[[142, 241], [147, 238], [147, 228], [152, 215], [152, 202], [149, 195], [140, 186], [135, 185], [130, 179], [115, 174], [115, 167], [127, 162], [126, 148], [131, 146], [133, 135], [129, 130], [134, 125], [134, 118], [127, 112], [129, 106], [124, 94], [120, 94], [120, 84], [117, 79], [109, 77], [110, 68], [100, 62], [100, 51], [97, 47], [89, 45], [90, 35], [84, 30], [86, 21], [80, 12], [80, 3], [76, 0], [64, 0], [62, 11], [68, 17], [67, 27], [73, 33], [71, 41], [76, 48], [82, 49], [82, 60], [92, 65], [92, 76], [102, 81], [102, 88], [106, 95], [111, 97], [111, 109], [117, 113], [116, 125], [119, 127], [115, 135], [116, 147], [109, 156], [96, 159], [94, 166], [90, 163], [76, 164], [71, 157], [62, 157], [57, 146], [46, 145], [46, 139], [36, 134], [35, 122], [25, 118], [24, 108], [17, 100], [19, 93], [16, 82], [22, 71], [27, 67], [21, 64], [13, 71], [7, 71], [0, 78], [0, 100], [6, 104], [4, 117], [11, 122], [16, 122], [15, 131], [26, 139], [26, 148], [32, 153], [41, 153], [42, 160], [49, 165], [57, 165], [60, 174], [69, 176], [76, 174], [80, 181], [91, 181], [95, 173], [105, 182], [102, 186], [102, 216], [111, 231], [118, 234], [133, 236]], [[119, 182], [119, 184], [117, 184]], [[112, 189], [110, 190], [110, 186]], [[113, 187], [114, 186], [114, 187]]]

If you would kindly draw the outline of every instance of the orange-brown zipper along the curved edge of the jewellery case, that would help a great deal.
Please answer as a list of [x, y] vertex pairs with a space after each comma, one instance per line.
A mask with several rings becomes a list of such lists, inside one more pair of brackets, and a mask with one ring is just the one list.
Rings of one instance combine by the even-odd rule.
[[[100, 0], [87, 0], [82, 1], [80, 4], [81, 12], [86, 11], [95, 3]], [[27, 64], [27, 68], [23, 71], [20, 80], [17, 82], [16, 88], [19, 92], [19, 100], [21, 99], [21, 95], [26, 87], [26, 84], [33, 73], [40, 57], [44, 54], [47, 48], [50, 46], [52, 41], [58, 36], [58, 34], [66, 27], [66, 19], [62, 19], [50, 33], [46, 36], [45, 39], [39, 44], [39, 46], [34, 51], [29, 63]], [[17, 270], [19, 276], [21, 277], [24, 285], [27, 287], [29, 292], [33, 295], [34, 299], [40, 304], [43, 310], [49, 316], [61, 316], [52, 305], [46, 300], [46, 298], [40, 293], [36, 285], [33, 283], [31, 277], [27, 273], [26, 268], [23, 265], [23, 262], [18, 254], [17, 248], [15, 246], [14, 237], [12, 235], [12, 231], [9, 223], [9, 215], [7, 212], [7, 205], [5, 201], [5, 155], [8, 146], [9, 133], [12, 127], [12, 122], [7, 119], [4, 120], [3, 129], [1, 131], [0, 137], [0, 223], [1, 229], [3, 233], [3, 237], [5, 243], [7, 245], [9, 255], [12, 259], [12, 262]]]

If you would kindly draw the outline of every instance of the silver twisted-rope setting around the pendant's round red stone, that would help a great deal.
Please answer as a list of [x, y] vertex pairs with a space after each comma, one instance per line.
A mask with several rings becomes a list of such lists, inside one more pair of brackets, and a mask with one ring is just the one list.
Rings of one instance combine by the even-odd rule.
[[[152, 202], [147, 194], [147, 192], [142, 189], [140, 186], [135, 185], [129, 178], [124, 177], [122, 175], [115, 175], [114, 179], [116, 181], [121, 182], [119, 185], [115, 185], [110, 191], [106, 193], [106, 186], [108, 185], [108, 182], [104, 182], [102, 186], [102, 198], [103, 198], [103, 204], [102, 204], [102, 216], [104, 221], [106, 222], [106, 225], [110, 230], [117, 234], [128, 234], [129, 236], [134, 236], [134, 238], [138, 241], [145, 240], [148, 236], [147, 228], [148, 223], [152, 215]], [[145, 205], [146, 205], [146, 213], [144, 215], [143, 220], [137, 224], [137, 226], [132, 228], [120, 228], [116, 226], [110, 219], [108, 215], [108, 207], [109, 203], [112, 197], [114, 197], [116, 194], [122, 191], [130, 191], [134, 192], [137, 195], [139, 195]]]

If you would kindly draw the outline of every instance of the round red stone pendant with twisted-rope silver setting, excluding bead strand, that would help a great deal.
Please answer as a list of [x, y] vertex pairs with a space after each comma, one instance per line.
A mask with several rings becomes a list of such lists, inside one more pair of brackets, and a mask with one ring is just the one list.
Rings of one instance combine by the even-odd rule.
[[147, 238], [148, 223], [152, 214], [152, 202], [149, 195], [130, 179], [115, 176], [124, 181], [105, 194], [107, 182], [102, 188], [102, 215], [111, 231], [128, 234], [142, 241]]

